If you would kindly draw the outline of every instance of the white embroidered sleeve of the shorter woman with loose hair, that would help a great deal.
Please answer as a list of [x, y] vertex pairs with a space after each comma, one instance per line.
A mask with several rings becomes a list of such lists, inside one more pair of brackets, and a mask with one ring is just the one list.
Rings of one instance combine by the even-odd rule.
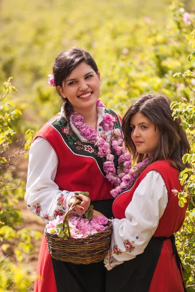
[[138, 185], [124, 219], [113, 219], [111, 248], [104, 259], [107, 270], [142, 254], [154, 235], [168, 203], [161, 175], [150, 171]]

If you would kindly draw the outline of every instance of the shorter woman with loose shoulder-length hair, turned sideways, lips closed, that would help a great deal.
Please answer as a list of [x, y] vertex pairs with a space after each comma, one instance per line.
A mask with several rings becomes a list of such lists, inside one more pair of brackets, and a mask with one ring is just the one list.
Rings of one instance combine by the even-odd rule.
[[176, 190], [183, 189], [178, 177], [190, 167], [182, 163], [190, 146], [170, 103], [168, 97], [146, 94], [123, 118], [125, 145], [137, 165], [122, 178], [113, 203], [106, 292], [186, 291], [174, 233], [187, 209], [187, 203], [179, 207]]

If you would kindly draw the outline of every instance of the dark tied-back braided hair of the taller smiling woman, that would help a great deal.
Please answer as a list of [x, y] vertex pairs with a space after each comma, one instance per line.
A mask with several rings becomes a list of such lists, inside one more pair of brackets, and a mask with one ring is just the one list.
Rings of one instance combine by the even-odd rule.
[[68, 100], [64, 98], [58, 90], [58, 86], [62, 87], [62, 82], [68, 78], [71, 72], [80, 64], [86, 63], [98, 74], [98, 67], [92, 56], [83, 48], [72, 47], [67, 51], [60, 53], [53, 66], [54, 82], [59, 96], [63, 100], [64, 115], [68, 124], [69, 134], [72, 134], [70, 126], [70, 114], [73, 112], [73, 106]]

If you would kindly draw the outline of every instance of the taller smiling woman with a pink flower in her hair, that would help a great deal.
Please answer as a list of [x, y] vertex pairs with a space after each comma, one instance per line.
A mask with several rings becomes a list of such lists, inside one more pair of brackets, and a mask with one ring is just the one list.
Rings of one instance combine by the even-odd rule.
[[[68, 211], [76, 200], [75, 192], [85, 191], [95, 209], [110, 218], [110, 192], [121, 183], [119, 169], [129, 172], [131, 156], [125, 152], [121, 118], [98, 99], [98, 67], [88, 52], [71, 48], [56, 58], [48, 82], [56, 87], [63, 107], [31, 145], [25, 195], [28, 209], [47, 222]], [[74, 211], [78, 215], [90, 203], [87, 197], [80, 198], [83, 201]], [[34, 292], [90, 292], [92, 286], [94, 292], [104, 292], [105, 277], [103, 261], [75, 265], [53, 259], [43, 236]]]

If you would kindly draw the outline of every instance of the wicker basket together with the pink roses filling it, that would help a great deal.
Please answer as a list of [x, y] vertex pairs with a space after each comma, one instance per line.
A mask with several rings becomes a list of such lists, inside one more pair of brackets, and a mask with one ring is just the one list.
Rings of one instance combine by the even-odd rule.
[[57, 216], [47, 223], [48, 250], [57, 260], [74, 264], [96, 263], [108, 253], [112, 222], [104, 216], [93, 219], [93, 206], [85, 213], [85, 218], [72, 215], [72, 210], [80, 202], [81, 199], [75, 201], [65, 216]]

